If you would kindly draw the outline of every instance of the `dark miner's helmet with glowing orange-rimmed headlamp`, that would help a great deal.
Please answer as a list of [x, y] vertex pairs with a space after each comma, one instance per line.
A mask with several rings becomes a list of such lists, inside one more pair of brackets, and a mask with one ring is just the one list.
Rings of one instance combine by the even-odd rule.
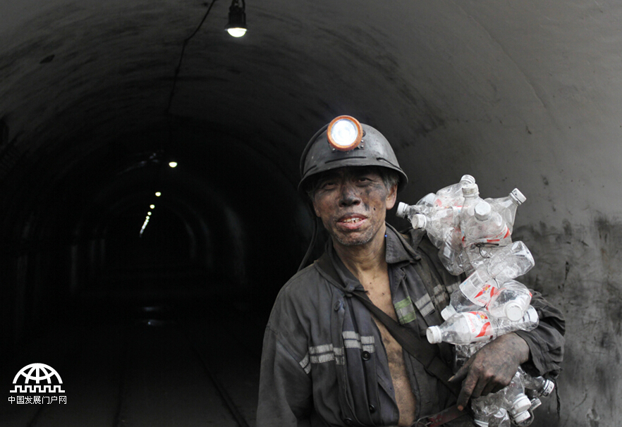
[[398, 192], [408, 183], [391, 144], [382, 133], [350, 116], [339, 116], [318, 130], [300, 157], [298, 190], [317, 174], [343, 166], [380, 166], [399, 175]]

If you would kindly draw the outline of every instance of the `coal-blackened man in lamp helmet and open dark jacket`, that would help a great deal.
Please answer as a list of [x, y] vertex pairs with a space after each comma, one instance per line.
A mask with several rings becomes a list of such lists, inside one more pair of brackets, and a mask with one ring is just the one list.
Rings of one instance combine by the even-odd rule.
[[299, 188], [330, 238], [274, 303], [258, 427], [472, 426], [470, 398], [504, 388], [519, 366], [559, 372], [563, 316], [537, 292], [539, 326], [490, 341], [456, 373], [451, 346], [427, 342], [463, 278], [443, 268], [425, 231], [385, 222], [408, 177], [378, 130], [340, 116], [312, 137], [300, 165]]

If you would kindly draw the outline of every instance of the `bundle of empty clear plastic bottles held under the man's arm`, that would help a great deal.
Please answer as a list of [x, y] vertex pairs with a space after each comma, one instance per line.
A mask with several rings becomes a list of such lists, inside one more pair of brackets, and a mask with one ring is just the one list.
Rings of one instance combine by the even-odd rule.
[[[534, 266], [523, 242], [511, 239], [516, 210], [525, 196], [514, 189], [507, 197], [482, 199], [475, 178], [429, 193], [417, 204], [400, 203], [397, 215], [413, 228], [426, 230], [439, 258], [451, 274], [467, 278], [451, 293], [441, 312], [445, 322], [427, 330], [429, 342], [456, 345], [461, 366], [478, 349], [499, 335], [532, 330], [538, 316], [530, 306], [531, 293], [515, 280]], [[519, 369], [503, 390], [472, 400], [478, 426], [528, 426], [532, 410], [549, 395], [553, 383]]]

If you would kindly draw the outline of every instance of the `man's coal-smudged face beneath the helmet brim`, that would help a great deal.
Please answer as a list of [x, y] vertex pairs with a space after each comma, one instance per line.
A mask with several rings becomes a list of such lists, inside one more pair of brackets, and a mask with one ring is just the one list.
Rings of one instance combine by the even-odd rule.
[[394, 206], [396, 192], [374, 168], [345, 167], [319, 178], [312, 202], [335, 244], [366, 245], [384, 233], [386, 210]]

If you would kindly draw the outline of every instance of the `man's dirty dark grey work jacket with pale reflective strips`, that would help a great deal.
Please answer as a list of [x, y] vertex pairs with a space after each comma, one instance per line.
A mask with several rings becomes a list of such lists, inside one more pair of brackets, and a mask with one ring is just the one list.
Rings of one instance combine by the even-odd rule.
[[[413, 230], [409, 237], [414, 254], [387, 224], [391, 296], [399, 321], [425, 340], [427, 326], [442, 323], [439, 310], [460, 279], [442, 268], [427, 237]], [[362, 289], [330, 242], [327, 252], [346, 290]], [[431, 267], [420, 269], [420, 276], [417, 262]], [[539, 295], [534, 299], [542, 307], [539, 314], [545, 315], [527, 341], [535, 369], [559, 369], [563, 318]], [[449, 359], [447, 348], [441, 354]], [[455, 403], [449, 390], [415, 358], [404, 352], [404, 360], [417, 417]], [[398, 418], [386, 351], [370, 312], [331, 284], [317, 263], [295, 274], [276, 297], [264, 335], [257, 427], [395, 426]]]

